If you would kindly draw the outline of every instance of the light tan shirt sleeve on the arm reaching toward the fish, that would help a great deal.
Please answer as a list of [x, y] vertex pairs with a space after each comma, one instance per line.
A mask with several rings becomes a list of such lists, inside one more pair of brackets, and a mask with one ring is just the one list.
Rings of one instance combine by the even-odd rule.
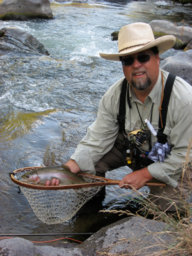
[[88, 127], [86, 136], [70, 157], [83, 172], [95, 174], [95, 165], [111, 150], [118, 136], [116, 121], [123, 79], [113, 84], [99, 103], [97, 119]]

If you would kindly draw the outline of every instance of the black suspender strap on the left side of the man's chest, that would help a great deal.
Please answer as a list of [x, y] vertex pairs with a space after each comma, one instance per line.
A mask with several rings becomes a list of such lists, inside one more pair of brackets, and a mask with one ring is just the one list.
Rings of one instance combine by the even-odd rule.
[[127, 79], [124, 79], [122, 84], [122, 92], [120, 94], [120, 105], [119, 112], [117, 116], [118, 124], [120, 126], [120, 130], [125, 134], [125, 113], [126, 113], [126, 93], [127, 93]]

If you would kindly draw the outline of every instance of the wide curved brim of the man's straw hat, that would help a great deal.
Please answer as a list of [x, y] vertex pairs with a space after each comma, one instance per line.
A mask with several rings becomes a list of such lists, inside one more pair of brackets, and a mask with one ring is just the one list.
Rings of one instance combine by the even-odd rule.
[[154, 46], [157, 46], [158, 50], [159, 50], [159, 54], [162, 54], [163, 52], [166, 52], [169, 49], [171, 49], [173, 47], [173, 45], [175, 44], [175, 41], [176, 41], [175, 36], [171, 36], [171, 35], [161, 36], [146, 45], [139, 45], [136, 47], [131, 47], [131, 48], [125, 49], [124, 51], [122, 51], [120, 53], [107, 54], [107, 53], [100, 52], [99, 55], [100, 55], [100, 57], [102, 57], [106, 60], [120, 61], [119, 57], [121, 57], [121, 56], [127, 56], [129, 54], [134, 54], [136, 52], [145, 51]]

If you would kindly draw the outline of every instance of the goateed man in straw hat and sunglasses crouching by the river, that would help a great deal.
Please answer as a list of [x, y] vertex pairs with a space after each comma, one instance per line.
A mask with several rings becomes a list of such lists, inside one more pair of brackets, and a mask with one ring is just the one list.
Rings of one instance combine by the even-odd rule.
[[[167, 143], [160, 143], [170, 149], [161, 161], [152, 161], [147, 157], [149, 152], [156, 154], [156, 150], [152, 148], [157, 143], [157, 136], [146, 129], [145, 120], [150, 121], [155, 131], [158, 132], [161, 128], [159, 113], [161, 114], [161, 102], [166, 97], [163, 92], [168, 72], [159, 69], [159, 54], [168, 51], [174, 44], [174, 36], [162, 36], [155, 40], [152, 29], [145, 23], [129, 24], [120, 29], [118, 53], [100, 53], [100, 56], [106, 60], [122, 61], [125, 77], [113, 84], [102, 97], [97, 119], [88, 127], [86, 136], [66, 163], [71, 172], [77, 173], [81, 170], [102, 175], [108, 170], [125, 165], [123, 144], [128, 138], [126, 149], [131, 150], [134, 172], [125, 175], [119, 186], [140, 189], [153, 179], [164, 182], [167, 185], [164, 189], [150, 187], [150, 198], [167, 211], [175, 211], [175, 206], [168, 204], [169, 200], [156, 196], [163, 193], [166, 198], [180, 201], [180, 195], [185, 199], [188, 192], [191, 192], [188, 182], [184, 180], [182, 183], [182, 174], [186, 177], [189, 172], [183, 173], [181, 164], [185, 161], [192, 135], [191, 86], [180, 77], [175, 78], [165, 119], [166, 125], [163, 127]], [[121, 128], [118, 115], [125, 78], [125, 125]], [[160, 120], [162, 118], [160, 115]], [[143, 127], [145, 129], [142, 129]], [[132, 132], [134, 130], [136, 132]], [[53, 184], [55, 180], [52, 180]], [[180, 207], [180, 202], [177, 207]]]

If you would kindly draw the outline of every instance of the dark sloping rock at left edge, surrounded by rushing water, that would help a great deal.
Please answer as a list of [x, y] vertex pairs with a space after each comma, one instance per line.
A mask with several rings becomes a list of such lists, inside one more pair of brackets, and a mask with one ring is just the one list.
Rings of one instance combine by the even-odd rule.
[[19, 28], [2, 28], [0, 30], [0, 42], [0, 50], [2, 51], [17, 51], [49, 55], [49, 52], [45, 49], [43, 44], [41, 44], [31, 34]]

